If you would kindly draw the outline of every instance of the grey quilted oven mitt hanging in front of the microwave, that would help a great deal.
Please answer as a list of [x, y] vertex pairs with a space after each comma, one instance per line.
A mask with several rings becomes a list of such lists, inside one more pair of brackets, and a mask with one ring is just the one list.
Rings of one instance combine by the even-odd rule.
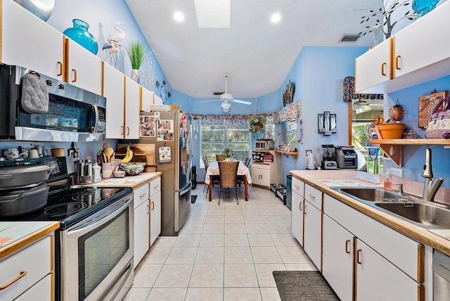
[[49, 110], [49, 91], [39, 73], [31, 71], [23, 76], [21, 104], [30, 114], [43, 114]]

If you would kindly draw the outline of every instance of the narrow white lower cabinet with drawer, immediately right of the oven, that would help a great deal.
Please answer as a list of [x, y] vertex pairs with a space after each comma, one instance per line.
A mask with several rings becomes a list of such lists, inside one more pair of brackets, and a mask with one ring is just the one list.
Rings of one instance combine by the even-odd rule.
[[134, 268], [141, 262], [149, 248], [150, 215], [148, 183], [134, 189]]

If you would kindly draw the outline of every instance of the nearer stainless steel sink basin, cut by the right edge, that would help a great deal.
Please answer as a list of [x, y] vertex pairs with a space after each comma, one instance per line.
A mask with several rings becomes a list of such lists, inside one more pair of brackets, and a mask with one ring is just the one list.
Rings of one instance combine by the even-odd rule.
[[449, 229], [450, 210], [425, 203], [375, 203], [375, 206], [428, 229]]

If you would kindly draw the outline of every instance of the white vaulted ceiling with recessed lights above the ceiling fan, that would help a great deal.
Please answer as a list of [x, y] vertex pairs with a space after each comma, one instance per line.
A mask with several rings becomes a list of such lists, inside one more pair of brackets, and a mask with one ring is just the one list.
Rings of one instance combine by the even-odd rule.
[[[224, 91], [224, 73], [233, 97], [276, 91], [304, 46], [373, 45], [371, 34], [356, 42], [340, 39], [361, 32], [361, 17], [381, 3], [232, 0], [228, 28], [199, 28], [194, 0], [127, 0], [172, 89], [195, 98]], [[176, 22], [175, 12], [184, 20]], [[273, 13], [281, 15], [279, 23], [271, 23]]]

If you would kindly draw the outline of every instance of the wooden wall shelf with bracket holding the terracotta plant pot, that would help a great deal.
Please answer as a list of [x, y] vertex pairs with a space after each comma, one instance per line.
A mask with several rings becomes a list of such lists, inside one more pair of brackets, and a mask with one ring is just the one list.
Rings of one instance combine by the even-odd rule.
[[450, 148], [450, 139], [370, 139], [369, 143], [380, 148], [397, 166], [403, 166], [403, 146], [444, 146]]

